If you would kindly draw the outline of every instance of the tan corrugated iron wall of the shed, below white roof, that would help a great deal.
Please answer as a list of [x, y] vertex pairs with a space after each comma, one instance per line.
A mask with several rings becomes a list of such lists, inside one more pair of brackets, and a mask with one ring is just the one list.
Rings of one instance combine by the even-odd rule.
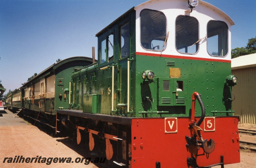
[[234, 115], [240, 116], [240, 123], [256, 124], [256, 67], [233, 69], [232, 74], [238, 78], [232, 87]]

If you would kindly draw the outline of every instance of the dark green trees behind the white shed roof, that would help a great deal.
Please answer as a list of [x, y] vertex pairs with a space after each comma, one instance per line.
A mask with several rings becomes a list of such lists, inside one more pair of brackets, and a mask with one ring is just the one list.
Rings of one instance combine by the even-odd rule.
[[237, 47], [231, 50], [231, 58], [256, 53], [256, 37], [248, 40], [246, 47]]

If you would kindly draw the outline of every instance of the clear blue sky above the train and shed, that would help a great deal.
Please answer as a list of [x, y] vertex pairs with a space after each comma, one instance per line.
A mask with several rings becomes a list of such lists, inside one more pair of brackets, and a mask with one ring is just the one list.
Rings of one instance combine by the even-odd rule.
[[[92, 57], [95, 34], [146, 0], [0, 0], [0, 80], [5, 93], [58, 59]], [[231, 48], [256, 36], [255, 0], [204, 0], [227, 13]], [[97, 58], [97, 54], [96, 54]]]

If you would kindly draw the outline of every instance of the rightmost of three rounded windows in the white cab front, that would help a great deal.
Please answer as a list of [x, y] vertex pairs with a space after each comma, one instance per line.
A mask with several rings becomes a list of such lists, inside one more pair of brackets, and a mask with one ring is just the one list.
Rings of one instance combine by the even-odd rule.
[[212, 56], [228, 53], [228, 26], [221, 21], [211, 20], [207, 24], [207, 51]]

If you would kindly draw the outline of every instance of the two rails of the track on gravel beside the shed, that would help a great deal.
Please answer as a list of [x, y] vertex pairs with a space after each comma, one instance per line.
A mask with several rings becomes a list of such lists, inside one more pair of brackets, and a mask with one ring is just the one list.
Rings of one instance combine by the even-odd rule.
[[[252, 129], [238, 129], [239, 133], [256, 135], [256, 130]], [[256, 142], [240, 141], [240, 149], [252, 150], [256, 152]]]

